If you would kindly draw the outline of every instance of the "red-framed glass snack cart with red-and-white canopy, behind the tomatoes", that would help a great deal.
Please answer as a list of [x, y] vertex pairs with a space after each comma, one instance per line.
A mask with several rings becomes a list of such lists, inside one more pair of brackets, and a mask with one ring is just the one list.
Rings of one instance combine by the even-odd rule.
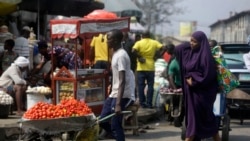
[[[74, 97], [86, 101], [95, 114], [101, 112], [103, 101], [107, 96], [108, 75], [103, 69], [89, 68], [91, 63], [89, 44], [94, 35], [106, 33], [112, 29], [129, 31], [130, 23], [130, 18], [112, 17], [112, 13], [103, 14], [103, 12], [106, 11], [94, 11], [84, 18], [50, 21], [52, 47], [56, 40], [68, 38], [75, 41], [73, 48], [77, 50], [77, 39], [80, 38], [83, 40], [81, 50], [84, 52], [83, 68], [68, 70], [62, 67], [52, 76], [54, 104], [62, 99]], [[99, 17], [98, 13], [104, 17]]]

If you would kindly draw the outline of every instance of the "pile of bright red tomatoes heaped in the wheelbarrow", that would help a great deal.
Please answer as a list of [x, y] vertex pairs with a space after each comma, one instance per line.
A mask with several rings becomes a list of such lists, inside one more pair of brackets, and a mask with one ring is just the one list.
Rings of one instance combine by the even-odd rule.
[[38, 102], [23, 115], [26, 119], [53, 119], [64, 117], [84, 116], [92, 113], [92, 110], [83, 101], [76, 99], [62, 100], [59, 104], [53, 105], [45, 102]]

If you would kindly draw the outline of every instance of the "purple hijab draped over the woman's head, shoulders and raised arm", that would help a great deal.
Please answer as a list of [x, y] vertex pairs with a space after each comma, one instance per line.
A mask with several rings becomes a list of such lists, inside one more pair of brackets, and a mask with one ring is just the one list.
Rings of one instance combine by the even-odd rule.
[[182, 65], [184, 78], [192, 77], [197, 83], [207, 85], [211, 79], [216, 78], [216, 64], [204, 32], [196, 31], [192, 34], [200, 47], [192, 50], [189, 43], [176, 47], [177, 59]]

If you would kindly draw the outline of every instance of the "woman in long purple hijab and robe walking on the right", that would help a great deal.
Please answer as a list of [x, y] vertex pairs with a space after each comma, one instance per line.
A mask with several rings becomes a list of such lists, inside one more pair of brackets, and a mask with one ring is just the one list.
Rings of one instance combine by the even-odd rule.
[[200, 141], [212, 136], [214, 141], [220, 141], [213, 113], [218, 91], [216, 65], [206, 35], [201, 31], [194, 32], [190, 43], [177, 46], [175, 51], [182, 75], [185, 141]]

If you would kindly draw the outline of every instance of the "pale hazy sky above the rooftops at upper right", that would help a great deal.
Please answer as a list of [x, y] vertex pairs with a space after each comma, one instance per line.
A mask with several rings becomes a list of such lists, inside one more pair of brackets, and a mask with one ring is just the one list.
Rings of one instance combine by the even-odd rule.
[[178, 35], [179, 22], [197, 21], [197, 30], [210, 34], [209, 26], [221, 19], [227, 19], [230, 11], [240, 13], [250, 10], [250, 0], [181, 0], [176, 4], [184, 8], [185, 12], [181, 15], [170, 17], [171, 25], [164, 25], [165, 35]]

